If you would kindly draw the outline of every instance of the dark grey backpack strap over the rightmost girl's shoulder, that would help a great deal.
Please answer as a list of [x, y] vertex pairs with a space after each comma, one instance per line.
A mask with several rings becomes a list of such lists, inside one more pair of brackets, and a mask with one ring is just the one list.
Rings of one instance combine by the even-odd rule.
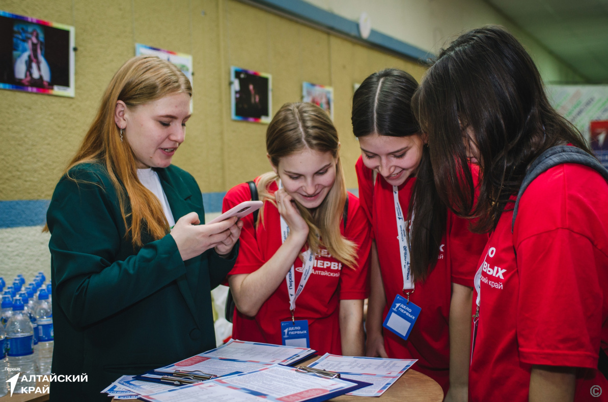
[[553, 146], [547, 151], [543, 152], [541, 156], [537, 157], [536, 160], [530, 165], [528, 172], [523, 177], [522, 186], [519, 188], [517, 193], [517, 200], [515, 201], [515, 208], [513, 209], [513, 221], [511, 222], [511, 233], [515, 227], [515, 218], [517, 217], [517, 210], [519, 209], [519, 200], [522, 194], [528, 188], [531, 182], [536, 179], [541, 173], [547, 171], [554, 166], [561, 165], [562, 163], [578, 163], [579, 165], [589, 166], [595, 169], [599, 174], [604, 177], [608, 182], [608, 171], [598, 160], [586, 151], [580, 148], [570, 145], [558, 145]]

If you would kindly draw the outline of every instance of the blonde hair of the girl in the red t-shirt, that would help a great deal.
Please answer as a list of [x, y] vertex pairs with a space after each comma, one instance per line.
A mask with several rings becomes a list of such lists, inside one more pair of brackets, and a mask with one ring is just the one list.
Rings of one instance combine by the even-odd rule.
[[[337, 158], [336, 181], [323, 202], [312, 212], [295, 203], [308, 224], [308, 247], [316, 253], [323, 245], [333, 257], [348, 267], [356, 267], [356, 245], [340, 234], [340, 220], [348, 194], [336, 128], [320, 107], [312, 103], [286, 103], [274, 115], [266, 131], [266, 151], [272, 165], [278, 166], [282, 157], [306, 148], [331, 152]], [[261, 175], [257, 183], [260, 200], [276, 205], [269, 186], [277, 179], [275, 172]]]

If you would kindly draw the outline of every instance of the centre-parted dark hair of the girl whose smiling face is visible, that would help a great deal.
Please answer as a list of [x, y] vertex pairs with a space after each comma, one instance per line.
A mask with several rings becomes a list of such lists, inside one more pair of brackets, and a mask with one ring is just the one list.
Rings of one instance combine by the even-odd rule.
[[[382, 70], [365, 78], [353, 97], [351, 121], [355, 137], [419, 135], [420, 126], [411, 107], [416, 88], [416, 80], [398, 69]], [[412, 214], [414, 219], [408, 237], [412, 245], [410, 269], [415, 281], [424, 281], [437, 264], [446, 227], [446, 207], [435, 189], [427, 146], [423, 146], [412, 190], [408, 216]]]

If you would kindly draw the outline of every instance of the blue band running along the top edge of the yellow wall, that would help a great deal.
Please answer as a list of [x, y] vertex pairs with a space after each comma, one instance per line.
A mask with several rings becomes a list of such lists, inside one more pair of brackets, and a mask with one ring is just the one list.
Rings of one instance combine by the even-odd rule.
[[429, 58], [434, 57], [432, 53], [427, 52], [426, 50], [419, 49], [418, 47], [402, 42], [399, 39], [385, 35], [384, 33], [373, 29], [371, 30], [370, 36], [367, 39], [363, 39], [359, 34], [358, 22], [350, 21], [350, 19], [346, 19], [323, 9], [319, 9], [319, 7], [302, 0], [252, 1], [266, 5], [267, 7], [271, 7], [272, 9], [279, 10], [297, 18], [302, 18], [306, 21], [313, 22], [314, 24], [340, 32], [344, 35], [353, 36], [353, 38], [357, 38], [361, 41], [384, 47], [385, 49], [392, 50], [393, 52], [400, 53], [404, 56], [423, 61], [424, 63], [428, 63]]

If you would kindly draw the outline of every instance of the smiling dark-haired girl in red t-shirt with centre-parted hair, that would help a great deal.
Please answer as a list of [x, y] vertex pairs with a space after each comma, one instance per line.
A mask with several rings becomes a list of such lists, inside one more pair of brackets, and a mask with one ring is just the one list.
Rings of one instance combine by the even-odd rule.
[[[375, 240], [367, 355], [418, 359], [416, 370], [449, 400], [466, 400], [473, 277], [487, 236], [472, 234], [437, 197], [426, 137], [410, 109], [417, 86], [408, 73], [387, 69], [366, 78], [353, 98], [359, 197]], [[399, 240], [399, 233], [407, 235]], [[421, 307], [407, 340], [382, 325], [397, 295]]]

